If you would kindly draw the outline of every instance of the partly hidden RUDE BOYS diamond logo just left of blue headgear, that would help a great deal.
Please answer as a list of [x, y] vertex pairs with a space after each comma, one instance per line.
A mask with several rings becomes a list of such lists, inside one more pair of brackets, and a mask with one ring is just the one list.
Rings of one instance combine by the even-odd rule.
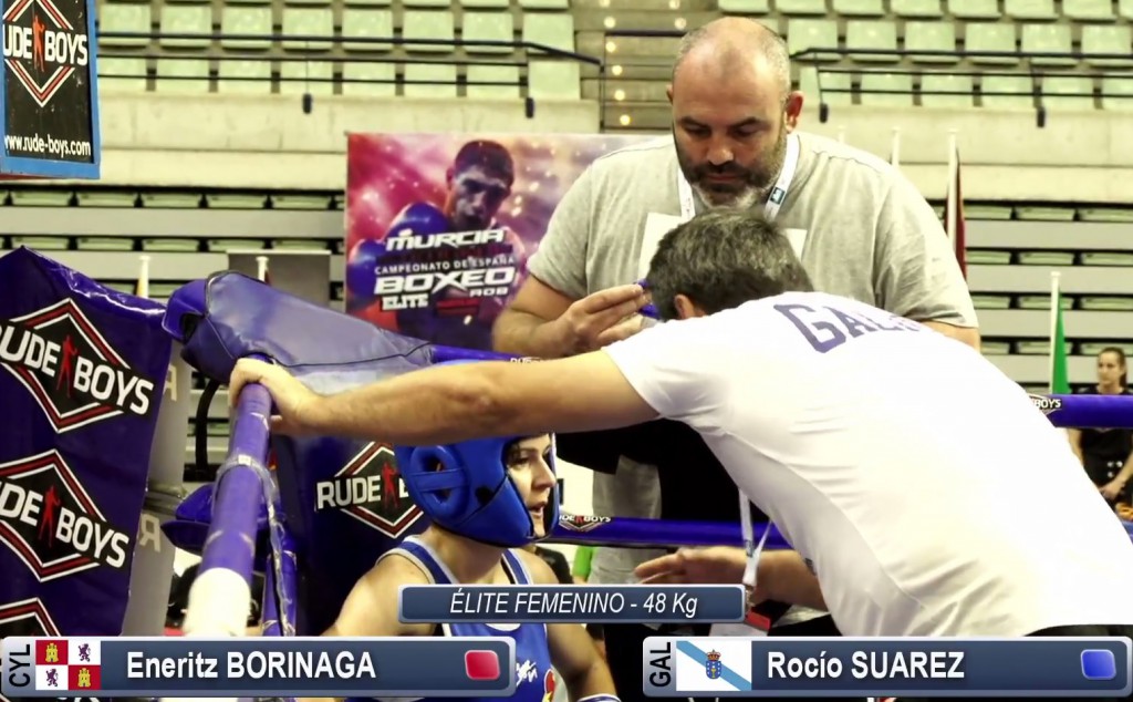
[[334, 474], [315, 483], [315, 511], [341, 509], [391, 539], [401, 536], [421, 516], [398, 472], [387, 443], [367, 443]]

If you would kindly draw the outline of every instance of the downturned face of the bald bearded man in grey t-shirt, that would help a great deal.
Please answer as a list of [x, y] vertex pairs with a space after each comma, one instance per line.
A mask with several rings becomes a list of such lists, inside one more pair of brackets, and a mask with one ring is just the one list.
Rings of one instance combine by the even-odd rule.
[[784, 95], [774, 73], [757, 68], [716, 81], [684, 65], [670, 87], [681, 172], [710, 208], [747, 209], [761, 201], [798, 124], [801, 93]]

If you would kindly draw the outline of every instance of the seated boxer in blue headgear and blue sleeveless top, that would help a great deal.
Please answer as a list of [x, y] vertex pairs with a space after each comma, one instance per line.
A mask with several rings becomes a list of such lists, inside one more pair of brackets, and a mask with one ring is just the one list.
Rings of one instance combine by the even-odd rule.
[[[556, 584], [522, 547], [546, 538], [559, 500], [551, 435], [395, 449], [412, 497], [433, 522], [384, 553], [347, 598], [327, 636], [510, 636], [512, 702], [552, 702], [556, 677], [572, 701], [617, 702], [610, 669], [578, 624], [403, 624], [401, 585]], [[503, 699], [501, 699], [502, 702]]]

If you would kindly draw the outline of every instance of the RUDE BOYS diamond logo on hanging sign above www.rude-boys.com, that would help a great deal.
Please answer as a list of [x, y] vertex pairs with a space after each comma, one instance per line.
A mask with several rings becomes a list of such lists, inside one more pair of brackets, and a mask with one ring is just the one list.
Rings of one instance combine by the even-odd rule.
[[41, 108], [90, 61], [87, 31], [54, 0], [8, 0], [3, 12], [3, 59]]

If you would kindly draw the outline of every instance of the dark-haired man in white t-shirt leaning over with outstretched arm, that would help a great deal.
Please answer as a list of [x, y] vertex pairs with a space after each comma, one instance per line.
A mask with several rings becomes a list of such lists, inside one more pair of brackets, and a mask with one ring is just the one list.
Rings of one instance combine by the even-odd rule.
[[826, 609], [844, 635], [1133, 631], [1133, 543], [1060, 432], [978, 352], [809, 291], [787, 239], [750, 213], [666, 235], [649, 287], [676, 321], [602, 350], [330, 397], [241, 362], [232, 397], [261, 381], [283, 431], [408, 445], [675, 420], [795, 549], [763, 559], [757, 594]]

